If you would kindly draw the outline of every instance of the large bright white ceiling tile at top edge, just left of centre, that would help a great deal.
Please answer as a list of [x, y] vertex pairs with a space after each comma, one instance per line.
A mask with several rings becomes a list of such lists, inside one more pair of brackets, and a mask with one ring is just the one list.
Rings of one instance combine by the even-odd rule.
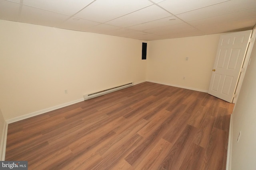
[[149, 5], [148, 0], [96, 0], [75, 16], [104, 23]]

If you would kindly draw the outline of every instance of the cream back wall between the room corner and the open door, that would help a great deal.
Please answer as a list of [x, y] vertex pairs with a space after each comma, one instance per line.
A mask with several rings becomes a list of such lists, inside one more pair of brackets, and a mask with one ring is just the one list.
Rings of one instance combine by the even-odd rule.
[[219, 38], [215, 34], [150, 41], [147, 80], [208, 91]]

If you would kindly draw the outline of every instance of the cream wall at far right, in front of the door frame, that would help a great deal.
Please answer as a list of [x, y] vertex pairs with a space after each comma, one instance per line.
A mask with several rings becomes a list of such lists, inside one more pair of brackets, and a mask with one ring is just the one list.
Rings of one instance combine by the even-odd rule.
[[[232, 170], [256, 169], [256, 43], [233, 114]], [[239, 142], [237, 137], [241, 131]]]

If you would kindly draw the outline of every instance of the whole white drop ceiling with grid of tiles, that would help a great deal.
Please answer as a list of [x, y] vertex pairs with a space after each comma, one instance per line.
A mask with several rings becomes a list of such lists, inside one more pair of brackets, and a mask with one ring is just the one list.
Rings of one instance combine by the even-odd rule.
[[0, 20], [150, 41], [252, 29], [256, 0], [0, 0]]

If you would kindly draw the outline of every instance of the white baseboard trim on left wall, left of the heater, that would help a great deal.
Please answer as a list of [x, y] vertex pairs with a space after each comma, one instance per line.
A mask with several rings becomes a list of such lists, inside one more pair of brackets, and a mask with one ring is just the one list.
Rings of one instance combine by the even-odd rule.
[[39, 110], [39, 111], [35, 111], [33, 113], [29, 113], [29, 114], [26, 114], [26, 115], [22, 115], [22, 116], [19, 116], [19, 117], [15, 117], [15, 118], [12, 118], [12, 119], [8, 119], [6, 120], [6, 123], [14, 123], [16, 121], [20, 121], [20, 120], [24, 120], [24, 119], [27, 119], [27, 118], [30, 118], [30, 117], [33, 117], [33, 116], [36, 116], [36, 115], [40, 115], [40, 114], [43, 114], [43, 113], [46, 113], [46, 112], [49, 112], [49, 111], [53, 111], [53, 110], [56, 110], [56, 109], [60, 109], [62, 107], [66, 107], [66, 106], [70, 106], [72, 104], [76, 104], [78, 102], [82, 102], [84, 101], [84, 99], [78, 99], [78, 100], [74, 100], [72, 102], [68, 102], [68, 103], [64, 103], [64, 104], [60, 104], [58, 106], [53, 106], [53, 107], [49, 107], [47, 109], [42, 109], [42, 110]]

